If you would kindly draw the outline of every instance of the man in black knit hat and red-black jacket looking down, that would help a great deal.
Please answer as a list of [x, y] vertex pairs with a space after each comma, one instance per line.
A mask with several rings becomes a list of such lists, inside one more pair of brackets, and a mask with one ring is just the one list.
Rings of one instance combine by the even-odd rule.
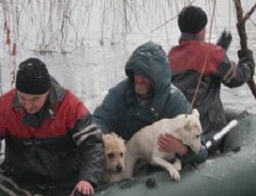
[[16, 88], [0, 97], [0, 135], [3, 176], [32, 194], [92, 194], [102, 182], [101, 131], [36, 58], [20, 63]]

